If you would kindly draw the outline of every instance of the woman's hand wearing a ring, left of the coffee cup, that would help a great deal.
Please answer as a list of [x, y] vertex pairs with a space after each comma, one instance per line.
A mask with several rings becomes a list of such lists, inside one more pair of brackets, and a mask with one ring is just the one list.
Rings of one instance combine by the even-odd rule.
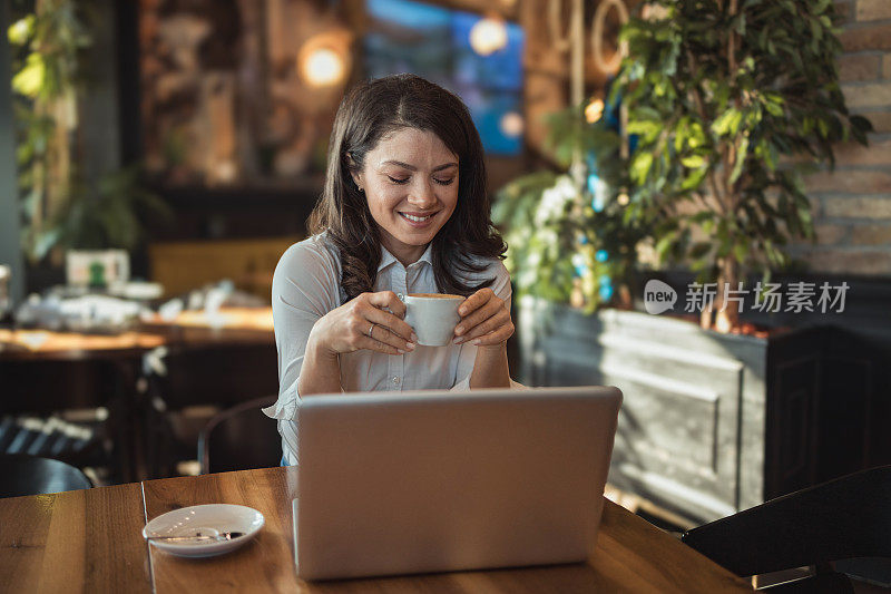
[[361, 349], [404, 354], [418, 337], [403, 318], [405, 304], [392, 291], [362, 293], [315, 322], [310, 343], [332, 356]]

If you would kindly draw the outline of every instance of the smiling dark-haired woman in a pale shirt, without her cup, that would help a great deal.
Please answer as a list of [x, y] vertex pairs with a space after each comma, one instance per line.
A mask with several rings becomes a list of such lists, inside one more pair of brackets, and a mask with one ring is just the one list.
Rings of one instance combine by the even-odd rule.
[[[283, 464], [297, 464], [301, 398], [510, 386], [506, 245], [492, 227], [467, 107], [411, 75], [364, 82], [334, 120], [313, 235], [273, 277]], [[466, 295], [453, 344], [421, 347], [401, 294]]]

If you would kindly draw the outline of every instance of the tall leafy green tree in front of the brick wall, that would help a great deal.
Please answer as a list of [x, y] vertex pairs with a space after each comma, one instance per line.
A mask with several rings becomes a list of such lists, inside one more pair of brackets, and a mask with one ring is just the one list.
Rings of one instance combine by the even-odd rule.
[[[658, 0], [623, 29], [613, 86], [638, 135], [630, 220], [652, 222], [663, 260], [733, 290], [747, 267], [782, 269], [784, 245], [813, 238], [799, 169], [833, 163], [833, 143], [865, 144], [839, 88], [832, 0]], [[711, 323], [703, 312], [703, 325]], [[736, 325], [727, 308], [718, 330]]]

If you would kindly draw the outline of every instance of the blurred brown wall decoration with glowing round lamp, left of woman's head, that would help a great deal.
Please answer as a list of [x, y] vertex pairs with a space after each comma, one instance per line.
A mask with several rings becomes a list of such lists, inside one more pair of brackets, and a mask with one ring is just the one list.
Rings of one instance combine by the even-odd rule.
[[147, 169], [167, 186], [283, 186], [324, 169], [353, 35], [337, 2], [140, 0]]

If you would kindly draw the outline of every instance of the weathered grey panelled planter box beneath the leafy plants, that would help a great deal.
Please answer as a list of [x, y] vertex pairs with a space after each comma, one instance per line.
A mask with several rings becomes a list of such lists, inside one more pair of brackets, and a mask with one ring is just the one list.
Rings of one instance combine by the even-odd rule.
[[864, 464], [870, 390], [858, 381], [871, 362], [851, 356], [835, 329], [764, 339], [530, 299], [517, 310], [520, 381], [621, 389], [610, 483], [692, 520]]

